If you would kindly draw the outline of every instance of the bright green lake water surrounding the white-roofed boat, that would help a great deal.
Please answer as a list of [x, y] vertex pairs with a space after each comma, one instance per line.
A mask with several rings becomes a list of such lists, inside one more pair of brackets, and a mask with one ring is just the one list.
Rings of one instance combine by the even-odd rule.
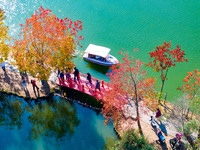
[[[0, 0], [0, 7], [6, 11], [9, 34], [19, 33], [19, 23], [24, 23], [39, 6], [51, 9], [60, 18], [83, 21], [81, 42], [84, 51], [90, 43], [111, 48], [111, 54], [121, 60], [118, 54], [125, 48], [136, 58], [148, 62], [147, 52], [163, 41], [172, 41], [185, 50], [188, 63], [170, 68], [164, 92], [173, 102], [180, 94], [176, 90], [182, 84], [187, 72], [200, 67], [200, 1], [199, 0]], [[140, 49], [133, 53], [132, 48]], [[108, 68], [75, 59], [75, 65], [82, 73], [109, 81], [105, 73]], [[146, 68], [149, 76], [159, 78], [159, 73]], [[158, 79], [158, 85], [160, 85]], [[158, 88], [159, 89], [159, 88]]]

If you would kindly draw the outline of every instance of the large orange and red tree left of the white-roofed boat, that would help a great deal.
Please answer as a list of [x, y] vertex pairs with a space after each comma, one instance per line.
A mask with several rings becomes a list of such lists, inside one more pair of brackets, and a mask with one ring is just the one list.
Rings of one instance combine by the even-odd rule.
[[20, 34], [14, 39], [13, 57], [19, 70], [42, 80], [47, 80], [52, 70], [71, 70], [75, 49], [83, 40], [78, 36], [81, 23], [59, 19], [49, 9], [36, 10], [24, 25], [20, 24]]

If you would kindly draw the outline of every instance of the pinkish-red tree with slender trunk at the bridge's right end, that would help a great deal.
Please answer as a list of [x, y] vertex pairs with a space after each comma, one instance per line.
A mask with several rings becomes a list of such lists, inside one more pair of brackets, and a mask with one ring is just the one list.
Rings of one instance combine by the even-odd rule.
[[[143, 135], [140, 117], [145, 112], [146, 107], [157, 107], [155, 97], [155, 79], [146, 77], [146, 71], [142, 68], [143, 62], [134, 59], [127, 52], [121, 52], [124, 56], [122, 62], [111, 67], [108, 73], [110, 82], [109, 89], [104, 95], [104, 106], [102, 113], [106, 118], [105, 122], [117, 121], [123, 117], [127, 109], [133, 108], [137, 120], [139, 132]], [[126, 109], [127, 108], [127, 109]]]

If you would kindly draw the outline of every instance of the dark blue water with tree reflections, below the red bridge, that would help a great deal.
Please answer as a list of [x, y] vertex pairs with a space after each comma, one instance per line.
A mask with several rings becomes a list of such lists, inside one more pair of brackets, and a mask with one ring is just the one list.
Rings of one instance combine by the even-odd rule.
[[103, 123], [101, 114], [57, 96], [35, 104], [0, 94], [2, 150], [101, 150], [116, 137]]

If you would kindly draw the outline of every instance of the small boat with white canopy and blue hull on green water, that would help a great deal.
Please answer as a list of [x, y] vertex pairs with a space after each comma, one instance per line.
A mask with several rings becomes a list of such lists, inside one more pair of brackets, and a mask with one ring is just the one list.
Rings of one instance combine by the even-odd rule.
[[83, 55], [83, 59], [103, 66], [112, 66], [118, 64], [119, 61], [110, 55], [111, 49], [103, 46], [89, 44]]

